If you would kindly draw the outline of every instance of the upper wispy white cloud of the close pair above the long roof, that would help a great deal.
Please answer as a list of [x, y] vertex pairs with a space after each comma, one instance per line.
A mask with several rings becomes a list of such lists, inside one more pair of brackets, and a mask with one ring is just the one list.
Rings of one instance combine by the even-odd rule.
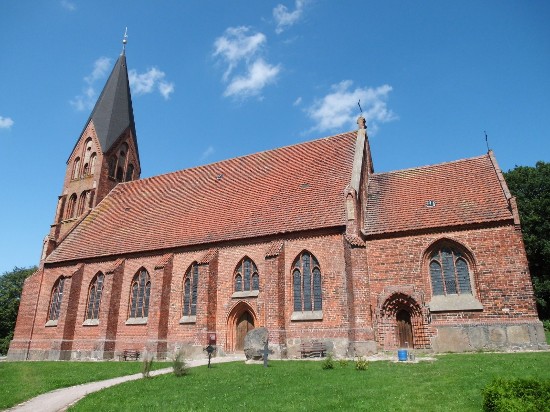
[[241, 60], [249, 59], [258, 52], [266, 42], [263, 33], [247, 35], [248, 27], [229, 27], [223, 36], [214, 41], [214, 57], [221, 57], [227, 63], [227, 70], [223, 77], [227, 80], [233, 69]]

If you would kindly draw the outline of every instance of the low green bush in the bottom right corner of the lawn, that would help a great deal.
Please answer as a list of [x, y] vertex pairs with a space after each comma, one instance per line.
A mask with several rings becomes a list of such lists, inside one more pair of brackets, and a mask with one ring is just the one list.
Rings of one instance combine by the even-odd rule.
[[487, 412], [550, 411], [550, 381], [497, 378], [482, 394]]

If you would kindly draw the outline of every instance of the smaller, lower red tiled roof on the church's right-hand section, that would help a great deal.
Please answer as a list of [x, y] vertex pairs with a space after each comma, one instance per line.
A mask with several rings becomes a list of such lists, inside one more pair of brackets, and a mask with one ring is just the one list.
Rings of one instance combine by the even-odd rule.
[[[434, 201], [435, 206], [428, 206]], [[489, 155], [375, 173], [368, 186], [368, 235], [513, 218]]]

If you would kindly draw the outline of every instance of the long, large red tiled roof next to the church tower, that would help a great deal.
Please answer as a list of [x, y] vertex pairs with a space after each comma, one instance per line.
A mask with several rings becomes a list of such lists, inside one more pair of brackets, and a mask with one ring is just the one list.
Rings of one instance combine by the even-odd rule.
[[344, 226], [356, 132], [117, 185], [46, 259]]

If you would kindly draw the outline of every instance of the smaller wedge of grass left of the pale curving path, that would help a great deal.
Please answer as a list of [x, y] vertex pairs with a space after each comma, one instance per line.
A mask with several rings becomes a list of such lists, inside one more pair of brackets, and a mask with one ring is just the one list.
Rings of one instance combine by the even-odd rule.
[[[153, 369], [170, 366], [153, 363]], [[0, 362], [0, 409], [59, 388], [140, 373], [141, 362]]]

